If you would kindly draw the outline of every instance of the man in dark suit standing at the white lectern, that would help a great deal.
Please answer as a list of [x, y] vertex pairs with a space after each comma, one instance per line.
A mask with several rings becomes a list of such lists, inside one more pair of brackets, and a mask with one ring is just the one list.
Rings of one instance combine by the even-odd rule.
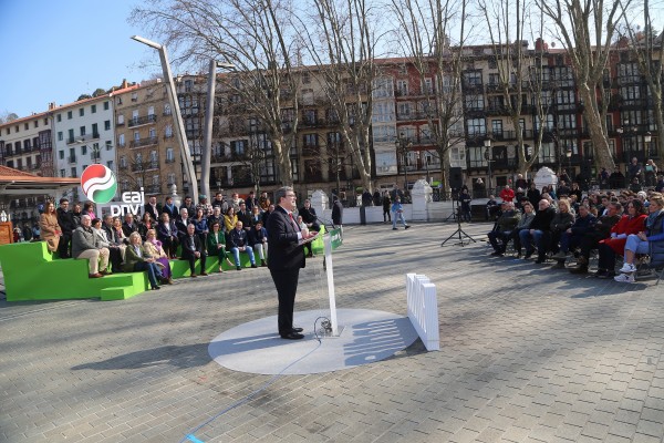
[[287, 340], [304, 338], [302, 328], [293, 328], [293, 309], [298, 291], [300, 268], [304, 267], [304, 249], [301, 239], [314, 233], [300, 231], [294, 218], [295, 193], [284, 186], [274, 193], [277, 207], [268, 218], [268, 268], [279, 298], [279, 336]]

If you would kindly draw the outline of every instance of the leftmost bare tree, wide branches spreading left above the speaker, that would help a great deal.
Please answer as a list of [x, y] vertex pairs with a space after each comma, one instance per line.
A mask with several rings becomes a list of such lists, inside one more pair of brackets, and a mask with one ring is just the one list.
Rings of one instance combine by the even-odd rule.
[[298, 124], [297, 112], [292, 131], [281, 122], [284, 105], [298, 106], [289, 16], [287, 0], [152, 0], [132, 13], [136, 24], [165, 40], [175, 63], [215, 59], [236, 65], [238, 73], [222, 76], [226, 90], [269, 135], [281, 184], [292, 182], [289, 152]]

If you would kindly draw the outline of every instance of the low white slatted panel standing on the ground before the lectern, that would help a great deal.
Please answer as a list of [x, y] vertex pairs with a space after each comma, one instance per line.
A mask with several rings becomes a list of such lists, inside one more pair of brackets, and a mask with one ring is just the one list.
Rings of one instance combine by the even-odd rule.
[[440, 350], [436, 285], [426, 276], [406, 274], [408, 318], [428, 351]]

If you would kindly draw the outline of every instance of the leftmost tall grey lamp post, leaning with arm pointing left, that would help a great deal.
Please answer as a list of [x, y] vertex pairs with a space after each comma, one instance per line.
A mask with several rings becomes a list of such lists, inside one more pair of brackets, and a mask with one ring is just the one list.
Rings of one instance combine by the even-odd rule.
[[141, 35], [132, 35], [132, 40], [139, 43], [146, 44], [153, 49], [159, 51], [159, 60], [162, 61], [162, 71], [164, 74], [164, 83], [166, 83], [166, 94], [170, 102], [170, 109], [175, 112], [175, 135], [180, 141], [180, 154], [185, 164], [185, 169], [189, 176], [189, 183], [191, 184], [191, 194], [194, 202], [198, 202], [198, 179], [196, 178], [196, 169], [191, 161], [189, 153], [189, 144], [187, 143], [187, 134], [185, 132], [185, 123], [183, 122], [183, 114], [180, 113], [179, 102], [177, 100], [177, 92], [175, 91], [175, 84], [173, 83], [173, 74], [170, 72], [170, 63], [168, 63], [168, 55], [166, 53], [166, 47], [156, 43], [152, 40], [147, 40]]

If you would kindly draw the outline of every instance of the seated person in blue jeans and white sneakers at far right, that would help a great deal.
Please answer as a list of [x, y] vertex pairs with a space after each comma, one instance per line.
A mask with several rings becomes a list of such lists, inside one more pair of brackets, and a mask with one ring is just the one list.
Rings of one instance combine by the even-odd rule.
[[661, 194], [651, 196], [647, 209], [649, 216], [644, 229], [627, 236], [623, 255], [624, 264], [620, 269], [622, 274], [615, 277], [615, 281], [624, 284], [635, 281], [634, 256], [636, 254], [650, 254], [651, 262], [664, 259], [664, 198]]

